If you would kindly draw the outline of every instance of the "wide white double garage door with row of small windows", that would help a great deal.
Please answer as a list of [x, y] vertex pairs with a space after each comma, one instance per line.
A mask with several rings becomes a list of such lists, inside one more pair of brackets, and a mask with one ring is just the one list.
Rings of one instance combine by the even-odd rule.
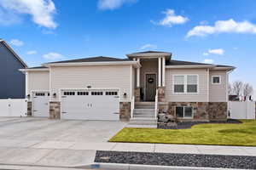
[[61, 93], [62, 119], [119, 120], [119, 90], [68, 90]]

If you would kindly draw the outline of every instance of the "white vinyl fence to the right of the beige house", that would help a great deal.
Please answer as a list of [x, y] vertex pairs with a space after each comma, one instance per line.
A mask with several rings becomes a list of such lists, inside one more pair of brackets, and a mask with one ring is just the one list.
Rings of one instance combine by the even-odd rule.
[[232, 119], [255, 119], [255, 102], [230, 101], [229, 111]]

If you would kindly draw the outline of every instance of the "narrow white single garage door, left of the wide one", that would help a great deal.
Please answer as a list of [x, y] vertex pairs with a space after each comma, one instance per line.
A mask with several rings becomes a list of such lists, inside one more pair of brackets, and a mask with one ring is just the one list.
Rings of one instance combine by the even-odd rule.
[[49, 117], [49, 92], [35, 92], [32, 95], [33, 116]]

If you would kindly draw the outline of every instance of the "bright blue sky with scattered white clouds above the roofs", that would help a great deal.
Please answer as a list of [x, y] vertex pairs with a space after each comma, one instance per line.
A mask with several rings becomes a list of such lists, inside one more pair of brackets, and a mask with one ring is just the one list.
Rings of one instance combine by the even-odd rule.
[[254, 0], [0, 0], [1, 37], [29, 66], [143, 50], [235, 65], [230, 82], [256, 78]]

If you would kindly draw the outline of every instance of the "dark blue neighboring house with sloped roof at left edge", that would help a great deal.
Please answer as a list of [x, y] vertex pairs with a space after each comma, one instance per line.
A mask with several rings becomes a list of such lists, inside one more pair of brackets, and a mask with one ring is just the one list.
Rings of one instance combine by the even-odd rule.
[[26, 63], [3, 39], [0, 39], [0, 99], [24, 99], [25, 75], [19, 69], [25, 69]]

